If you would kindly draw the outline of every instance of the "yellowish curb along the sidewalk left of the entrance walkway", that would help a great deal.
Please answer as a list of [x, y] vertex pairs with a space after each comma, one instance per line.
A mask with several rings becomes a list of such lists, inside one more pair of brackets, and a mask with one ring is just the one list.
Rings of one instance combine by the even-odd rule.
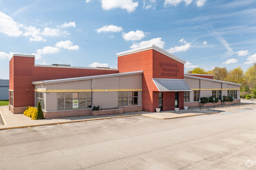
[[84, 121], [93, 121], [93, 120], [102, 120], [102, 119], [115, 119], [115, 118], [132, 117], [132, 116], [141, 116], [141, 114], [133, 114], [133, 115], [125, 115], [125, 116], [115, 116], [115, 117], [101, 117], [101, 118], [95, 118], [95, 119], [82, 119], [82, 120], [77, 120], [77, 121], [66, 121], [66, 122], [58, 122], [58, 123], [44, 123], [44, 124], [40, 124], [40, 125], [15, 126], [15, 127], [9, 127], [9, 128], [0, 128], [0, 130], [17, 129], [17, 128], [28, 128], [28, 127], [45, 126], [45, 125], [56, 125], [56, 124], [62, 124], [62, 123], [84, 122]]

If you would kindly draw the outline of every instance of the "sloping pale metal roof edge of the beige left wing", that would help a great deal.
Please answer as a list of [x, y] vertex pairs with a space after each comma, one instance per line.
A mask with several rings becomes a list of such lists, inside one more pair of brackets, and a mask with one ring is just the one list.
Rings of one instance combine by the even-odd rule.
[[93, 75], [93, 76], [85, 76], [85, 77], [74, 77], [74, 78], [66, 78], [66, 79], [45, 80], [45, 81], [32, 82], [32, 84], [63, 83], [63, 82], [73, 82], [73, 81], [80, 81], [80, 80], [91, 80], [91, 79], [98, 79], [98, 78], [117, 77], [117, 76], [124, 76], [124, 75], [135, 75], [135, 74], [142, 74], [142, 73], [143, 73], [143, 71], [133, 71], [133, 72], [126, 72], [126, 73], [115, 73], [115, 74]]

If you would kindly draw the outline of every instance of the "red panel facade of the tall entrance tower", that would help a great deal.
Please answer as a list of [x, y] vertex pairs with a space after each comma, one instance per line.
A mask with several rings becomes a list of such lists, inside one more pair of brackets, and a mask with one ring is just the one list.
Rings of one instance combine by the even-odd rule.
[[[153, 78], [184, 79], [184, 64], [153, 49], [118, 57], [119, 73], [143, 71], [142, 109], [155, 112], [159, 90]], [[156, 95], [157, 94], [157, 95]], [[183, 109], [183, 92], [179, 92], [179, 108]], [[163, 110], [174, 110], [175, 92], [163, 92]]]

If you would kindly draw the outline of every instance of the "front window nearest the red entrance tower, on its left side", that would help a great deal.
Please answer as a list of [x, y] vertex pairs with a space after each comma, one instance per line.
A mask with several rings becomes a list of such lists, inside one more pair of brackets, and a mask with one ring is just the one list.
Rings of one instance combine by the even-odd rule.
[[132, 106], [138, 105], [137, 91], [119, 91], [118, 92], [118, 106]]

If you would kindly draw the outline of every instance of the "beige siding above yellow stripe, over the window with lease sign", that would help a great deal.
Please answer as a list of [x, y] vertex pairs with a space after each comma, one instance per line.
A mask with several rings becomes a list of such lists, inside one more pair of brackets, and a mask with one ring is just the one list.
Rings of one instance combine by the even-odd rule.
[[47, 84], [47, 90], [92, 89], [92, 80]]

